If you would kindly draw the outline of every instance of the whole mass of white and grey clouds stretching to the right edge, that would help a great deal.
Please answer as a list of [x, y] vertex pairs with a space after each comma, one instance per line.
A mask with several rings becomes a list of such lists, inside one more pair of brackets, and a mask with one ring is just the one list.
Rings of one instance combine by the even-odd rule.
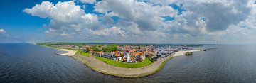
[[[172, 41], [191, 38], [210, 41], [226, 38], [256, 35], [256, 6], [252, 0], [80, 0], [95, 4], [94, 12], [85, 13], [73, 1], [52, 4], [43, 1], [23, 12], [50, 19], [46, 26], [48, 35], [67, 38], [111, 38], [134, 41], [154, 40]], [[177, 4], [183, 11], [169, 6]], [[84, 4], [82, 4], [84, 5]], [[114, 22], [112, 17], [118, 17]], [[164, 17], [174, 18], [166, 21]], [[203, 40], [203, 39], [205, 40]], [[149, 40], [151, 41], [151, 40]]]

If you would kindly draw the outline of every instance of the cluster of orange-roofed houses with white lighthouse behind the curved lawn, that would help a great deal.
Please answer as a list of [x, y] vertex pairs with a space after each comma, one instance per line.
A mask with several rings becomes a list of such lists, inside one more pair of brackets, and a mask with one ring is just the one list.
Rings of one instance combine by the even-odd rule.
[[153, 46], [140, 47], [130, 45], [118, 46], [117, 50], [112, 52], [92, 51], [92, 55], [122, 62], [142, 62], [146, 57], [149, 57], [149, 55], [153, 55], [153, 53]]

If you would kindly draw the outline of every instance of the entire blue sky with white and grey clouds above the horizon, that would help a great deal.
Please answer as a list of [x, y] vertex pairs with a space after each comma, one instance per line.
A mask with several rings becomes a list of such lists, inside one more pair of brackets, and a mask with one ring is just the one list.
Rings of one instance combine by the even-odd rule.
[[255, 0], [1, 0], [0, 43], [256, 43]]

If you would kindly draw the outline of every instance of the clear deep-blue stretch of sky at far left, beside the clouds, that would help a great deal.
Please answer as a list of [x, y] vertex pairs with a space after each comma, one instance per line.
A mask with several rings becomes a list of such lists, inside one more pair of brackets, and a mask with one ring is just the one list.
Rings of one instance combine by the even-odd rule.
[[[1, 0], [0, 1], [0, 29], [4, 29], [7, 36], [0, 36], [0, 42], [26, 42], [44, 36], [43, 24], [48, 19], [38, 18], [23, 13], [23, 9], [41, 4], [44, 0]], [[51, 0], [57, 3], [60, 0]], [[67, 1], [67, 0], [66, 0]], [[18, 38], [16, 38], [18, 37]]]

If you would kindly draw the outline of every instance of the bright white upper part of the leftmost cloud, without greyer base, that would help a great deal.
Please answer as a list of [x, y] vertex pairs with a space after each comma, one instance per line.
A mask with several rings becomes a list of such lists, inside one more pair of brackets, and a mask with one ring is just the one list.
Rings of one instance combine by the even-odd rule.
[[[52, 4], [50, 1], [43, 1], [41, 4], [33, 6], [31, 9], [24, 9], [23, 12], [38, 16], [41, 18], [50, 18], [54, 21], [61, 21], [66, 23], [80, 22], [80, 21], [97, 21], [97, 17], [85, 14], [85, 11], [77, 6], [73, 1], [58, 2]], [[83, 17], [83, 18], [81, 18]], [[85, 17], [85, 18], [84, 18]], [[88, 18], [86, 18], [88, 17]], [[92, 19], [93, 18], [93, 19]]]

